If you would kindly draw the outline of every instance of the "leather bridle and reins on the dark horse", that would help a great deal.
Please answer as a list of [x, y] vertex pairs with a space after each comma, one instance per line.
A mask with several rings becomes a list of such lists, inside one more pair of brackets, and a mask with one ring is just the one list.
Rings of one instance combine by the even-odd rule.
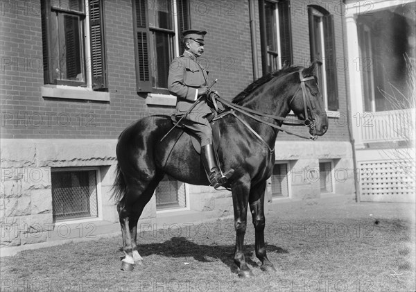
[[[241, 121], [241, 123], [243, 123], [243, 125], [246, 128], [248, 128], [254, 134], [254, 136], [259, 138], [263, 142], [263, 144], [266, 144], [270, 153], [274, 152], [274, 147], [270, 148], [270, 146], [263, 139], [263, 137], [261, 137], [259, 135], [259, 133], [257, 133], [246, 121], [244, 121], [243, 119], [241, 119], [241, 117], [236, 115], [233, 110], [236, 110], [237, 112], [241, 112], [242, 114], [245, 114], [246, 116], [248, 116], [248, 117], [250, 117], [250, 118], [252, 118], [256, 121], [259, 121], [260, 123], [264, 123], [264, 124], [266, 124], [266, 125], [268, 125], [272, 128], [275, 128], [275, 129], [280, 130], [282, 132], [286, 132], [289, 135], [295, 135], [297, 137], [301, 137], [301, 138], [304, 138], [304, 139], [311, 139], [311, 140], [317, 139], [315, 119], [314, 118], [309, 119], [309, 112], [311, 112], [311, 109], [313, 109], [313, 107], [312, 107], [312, 103], [309, 100], [309, 98], [306, 98], [306, 85], [305, 85], [306, 81], [315, 80], [315, 78], [313, 76], [304, 78], [302, 76], [302, 70], [299, 71], [299, 76], [300, 76], [300, 86], [299, 86], [299, 88], [297, 88], [297, 91], [295, 92], [295, 94], [293, 94], [293, 97], [291, 98], [291, 101], [290, 101], [289, 105], [293, 102], [293, 99], [297, 95], [297, 92], [299, 92], [299, 90], [302, 89], [302, 96], [303, 96], [303, 102], [304, 102], [304, 111], [305, 111], [304, 112], [304, 114], [305, 114], [305, 120], [304, 121], [299, 121], [299, 122], [293, 123], [293, 121], [291, 119], [288, 119], [286, 117], [279, 117], [279, 116], [275, 116], [275, 115], [272, 115], [272, 114], [264, 114], [263, 112], [258, 112], [257, 110], [252, 110], [250, 108], [245, 108], [241, 105], [236, 105], [235, 103], [230, 103], [229, 101], [226, 101], [225, 99], [220, 98], [220, 96], [218, 96], [217, 94], [215, 94], [216, 96], [214, 98], [212, 98], [213, 102], [214, 102], [214, 105], [216, 105], [215, 101], [217, 100], [217, 101], [220, 101], [221, 103], [227, 105], [229, 108], [232, 108], [232, 111], [226, 111], [226, 112], [223, 112], [221, 114], [218, 114], [217, 117], [214, 117], [214, 120], [221, 119], [221, 118], [225, 117], [227, 114], [232, 114], [234, 117], [236, 117], [236, 119]], [[256, 116], [254, 116], [254, 114], [256, 114]], [[257, 117], [257, 116], [259, 116], [259, 117]], [[311, 114], [311, 116], [312, 116], [312, 114]], [[283, 124], [288, 125], [288, 126], [307, 126], [308, 128], [310, 128], [313, 131], [313, 135], [309, 135], [309, 136], [306, 137], [305, 135], [297, 134], [295, 132], [292, 132], [291, 130], [281, 128], [280, 126], [277, 126], [274, 123], [270, 123], [268, 121], [263, 121], [263, 119], [261, 119], [260, 117], [266, 117], [266, 118], [269, 118], [269, 119], [282, 121]]]

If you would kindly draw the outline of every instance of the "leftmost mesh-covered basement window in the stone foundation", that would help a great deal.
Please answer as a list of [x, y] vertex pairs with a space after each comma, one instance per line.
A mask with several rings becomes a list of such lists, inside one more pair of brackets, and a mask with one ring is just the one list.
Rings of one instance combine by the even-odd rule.
[[98, 170], [53, 170], [53, 222], [98, 217]]

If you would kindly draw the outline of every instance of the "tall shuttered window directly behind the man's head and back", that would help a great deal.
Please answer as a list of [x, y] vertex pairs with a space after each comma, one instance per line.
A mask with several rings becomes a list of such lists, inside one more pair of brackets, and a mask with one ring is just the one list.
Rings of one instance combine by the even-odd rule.
[[137, 92], [168, 93], [168, 69], [190, 28], [189, 0], [132, 0]]

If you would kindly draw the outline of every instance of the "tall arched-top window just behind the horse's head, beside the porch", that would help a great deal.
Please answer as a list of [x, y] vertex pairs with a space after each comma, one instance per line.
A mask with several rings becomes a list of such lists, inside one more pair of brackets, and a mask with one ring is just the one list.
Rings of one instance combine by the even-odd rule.
[[308, 6], [308, 13], [311, 61], [320, 62], [317, 70], [318, 83], [324, 98], [325, 108], [338, 110], [333, 15], [320, 6]]

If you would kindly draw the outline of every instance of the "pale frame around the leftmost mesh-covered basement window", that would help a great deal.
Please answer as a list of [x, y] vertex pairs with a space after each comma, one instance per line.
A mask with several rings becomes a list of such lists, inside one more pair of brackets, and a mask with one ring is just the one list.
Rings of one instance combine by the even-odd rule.
[[[85, 218], [74, 218], [73, 220], [64, 219], [59, 221], [53, 221], [55, 226], [63, 224], [76, 224], [76, 223], [85, 223], [92, 221], [103, 221], [103, 195], [101, 192], [101, 168], [99, 166], [80, 166], [80, 167], [57, 167], [51, 168], [51, 175], [53, 172], [62, 172], [62, 171], [96, 171], [96, 194], [97, 194], [97, 216], [96, 217], [85, 217]], [[52, 185], [51, 185], [51, 196], [52, 194]], [[53, 212], [53, 210], [52, 210]]]

